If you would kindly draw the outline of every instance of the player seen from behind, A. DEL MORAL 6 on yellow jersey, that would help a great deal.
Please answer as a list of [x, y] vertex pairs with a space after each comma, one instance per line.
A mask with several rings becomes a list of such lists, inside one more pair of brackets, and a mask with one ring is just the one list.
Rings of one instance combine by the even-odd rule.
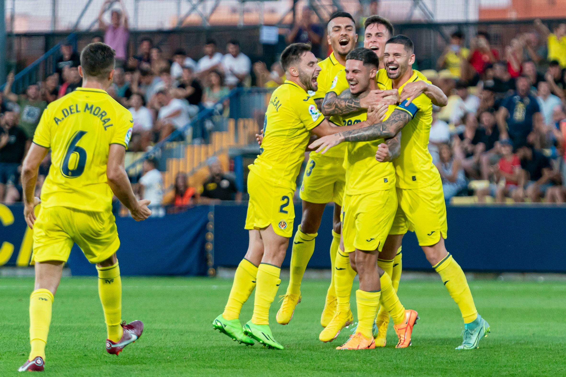
[[[73, 244], [98, 270], [98, 293], [108, 339], [106, 352], [118, 354], [136, 341], [143, 323], [122, 322], [122, 283], [116, 252], [120, 246], [112, 194], [136, 221], [147, 219], [148, 200], [136, 201], [124, 168], [132, 115], [105, 92], [112, 84], [114, 50], [100, 42], [84, 48], [79, 73], [82, 88], [49, 104], [33, 136], [22, 169], [24, 217], [33, 229], [35, 291], [29, 301], [31, 352], [19, 371], [42, 371], [53, 296]], [[52, 165], [35, 192], [37, 170], [51, 150]]]

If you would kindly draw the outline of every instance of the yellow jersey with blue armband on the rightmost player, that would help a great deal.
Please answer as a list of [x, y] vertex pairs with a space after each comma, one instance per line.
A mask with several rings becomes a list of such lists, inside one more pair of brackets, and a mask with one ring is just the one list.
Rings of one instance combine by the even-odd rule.
[[[387, 77], [387, 75], [386, 75]], [[399, 88], [399, 93], [407, 83], [421, 81], [424, 77], [421, 72], [413, 70], [413, 76]], [[381, 81], [383, 80], [383, 81]], [[392, 89], [393, 81], [380, 77], [384, 84], [383, 89]], [[427, 81], [428, 83], [428, 81]], [[388, 115], [395, 109], [409, 112], [413, 119], [401, 131], [401, 154], [393, 164], [397, 175], [397, 187], [402, 189], [415, 189], [427, 187], [440, 179], [440, 174], [428, 151], [428, 135], [432, 124], [432, 102], [425, 94], [413, 99], [409, 106], [404, 103], [398, 106], [389, 106]]]

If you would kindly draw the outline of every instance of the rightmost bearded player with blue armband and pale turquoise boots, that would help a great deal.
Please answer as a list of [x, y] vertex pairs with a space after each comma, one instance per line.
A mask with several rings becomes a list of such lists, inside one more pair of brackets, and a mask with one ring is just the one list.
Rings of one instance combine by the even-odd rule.
[[[400, 92], [410, 82], [419, 81], [411, 70], [415, 55], [408, 37], [396, 36], [385, 45], [387, 89]], [[398, 209], [384, 249], [397, 250], [404, 234], [414, 231], [426, 258], [439, 273], [464, 319], [464, 340], [457, 349], [475, 349], [487, 336], [489, 324], [475, 309], [466, 276], [444, 245], [447, 237], [446, 205], [440, 175], [428, 152], [428, 134], [432, 123], [432, 104], [424, 94], [403, 101], [389, 118], [357, 131], [346, 131], [316, 140], [318, 151], [342, 141], [368, 141], [391, 138], [402, 129], [401, 154], [395, 160]], [[388, 245], [387, 245], [388, 244]]]

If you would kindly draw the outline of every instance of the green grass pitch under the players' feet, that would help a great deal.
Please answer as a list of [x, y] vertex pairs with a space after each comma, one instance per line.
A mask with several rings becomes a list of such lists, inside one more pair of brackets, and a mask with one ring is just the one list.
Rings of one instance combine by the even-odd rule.
[[[413, 346], [346, 352], [334, 348], [350, 332], [323, 344], [319, 319], [327, 282], [307, 280], [288, 326], [273, 335], [285, 350], [246, 347], [212, 330], [231, 281], [124, 278], [123, 318], [145, 332], [119, 356], [104, 351], [104, 319], [96, 279], [63, 278], [53, 306], [46, 374], [53, 376], [564, 376], [566, 284], [473, 281], [471, 289], [491, 334], [471, 352], [457, 352], [462, 322], [441, 281], [401, 281], [400, 298], [421, 319]], [[284, 293], [286, 283], [280, 293]], [[16, 375], [27, 359], [29, 278], [1, 278], [0, 376]], [[251, 317], [252, 300], [242, 313]], [[355, 304], [353, 305], [355, 307]], [[391, 325], [390, 325], [391, 326]]]

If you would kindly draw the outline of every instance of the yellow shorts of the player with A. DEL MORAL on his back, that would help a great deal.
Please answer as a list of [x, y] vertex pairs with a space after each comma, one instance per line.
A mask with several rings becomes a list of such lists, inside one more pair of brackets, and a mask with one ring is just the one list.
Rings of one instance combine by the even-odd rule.
[[112, 212], [41, 207], [33, 226], [32, 262], [66, 262], [73, 244], [91, 263], [110, 258], [120, 247]]

